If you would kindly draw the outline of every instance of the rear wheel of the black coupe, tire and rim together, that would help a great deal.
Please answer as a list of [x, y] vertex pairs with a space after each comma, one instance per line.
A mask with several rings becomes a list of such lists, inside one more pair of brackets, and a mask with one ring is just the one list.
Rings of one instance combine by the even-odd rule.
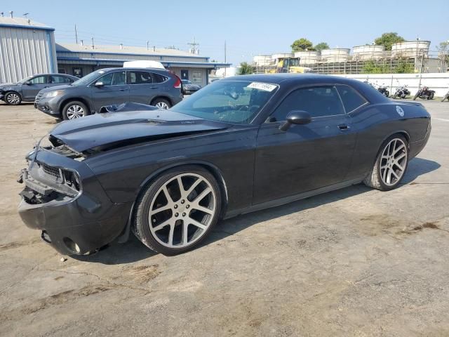
[[373, 169], [363, 183], [381, 191], [396, 188], [408, 166], [408, 142], [401, 135], [394, 135], [384, 141], [377, 155]]

